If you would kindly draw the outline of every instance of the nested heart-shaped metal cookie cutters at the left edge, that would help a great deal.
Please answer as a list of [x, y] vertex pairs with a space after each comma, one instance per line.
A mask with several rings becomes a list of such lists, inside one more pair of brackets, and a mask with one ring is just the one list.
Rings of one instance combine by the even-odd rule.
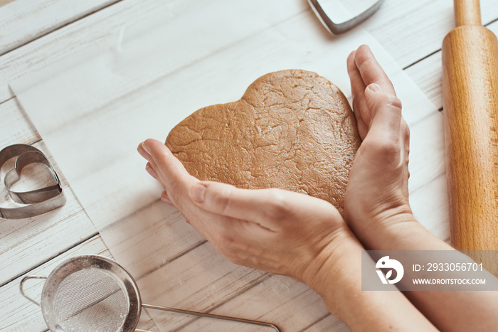
[[[4, 183], [14, 202], [26, 204], [18, 208], [1, 208], [0, 218], [21, 219], [47, 213], [65, 204], [65, 196], [59, 177], [47, 157], [36, 147], [26, 144], [14, 144], [0, 151], [0, 168], [11, 158], [17, 157], [14, 169], [6, 173]], [[34, 191], [13, 191], [14, 183], [21, 178], [23, 168], [33, 163], [45, 164], [51, 171], [54, 184]]]

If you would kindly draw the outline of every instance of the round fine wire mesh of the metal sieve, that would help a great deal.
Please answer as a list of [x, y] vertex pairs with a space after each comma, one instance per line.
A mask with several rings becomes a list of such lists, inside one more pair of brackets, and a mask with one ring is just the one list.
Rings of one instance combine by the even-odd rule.
[[129, 302], [120, 282], [104, 269], [69, 274], [55, 289], [55, 319], [65, 332], [122, 330]]

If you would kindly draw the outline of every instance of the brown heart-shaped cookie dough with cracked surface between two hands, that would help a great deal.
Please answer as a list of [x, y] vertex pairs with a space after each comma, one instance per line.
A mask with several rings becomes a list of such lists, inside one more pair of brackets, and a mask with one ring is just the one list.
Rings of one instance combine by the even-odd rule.
[[237, 102], [198, 109], [166, 138], [196, 178], [306, 193], [341, 214], [360, 143], [341, 90], [305, 70], [264, 75]]

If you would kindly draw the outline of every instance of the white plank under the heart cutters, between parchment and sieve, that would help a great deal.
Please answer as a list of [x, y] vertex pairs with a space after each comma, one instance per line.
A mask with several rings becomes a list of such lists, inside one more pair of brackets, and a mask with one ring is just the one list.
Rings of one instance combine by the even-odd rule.
[[[34, 146], [51, 159], [63, 182], [67, 203], [33, 218], [0, 219], [0, 285], [97, 233], [43, 141]], [[5, 201], [2, 205], [9, 206]]]

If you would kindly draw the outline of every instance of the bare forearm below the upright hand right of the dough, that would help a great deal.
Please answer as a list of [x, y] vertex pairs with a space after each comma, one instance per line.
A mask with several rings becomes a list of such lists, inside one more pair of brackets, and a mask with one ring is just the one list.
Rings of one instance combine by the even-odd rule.
[[[370, 250], [454, 250], [415, 220], [399, 215], [361, 239]], [[496, 291], [405, 291], [404, 294], [443, 331], [490, 331], [498, 325]]]

